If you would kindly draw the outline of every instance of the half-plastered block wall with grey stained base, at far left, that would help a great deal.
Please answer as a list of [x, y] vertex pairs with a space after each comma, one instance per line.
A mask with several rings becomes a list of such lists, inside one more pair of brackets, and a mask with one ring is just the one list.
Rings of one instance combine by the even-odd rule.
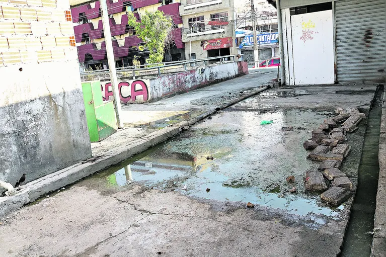
[[0, 0], [0, 180], [91, 157], [68, 0]]

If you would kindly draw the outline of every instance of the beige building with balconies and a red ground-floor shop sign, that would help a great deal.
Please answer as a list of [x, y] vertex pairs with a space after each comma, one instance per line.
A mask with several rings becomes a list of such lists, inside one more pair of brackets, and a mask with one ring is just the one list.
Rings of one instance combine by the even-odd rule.
[[233, 0], [181, 0], [180, 15], [187, 59], [238, 53]]

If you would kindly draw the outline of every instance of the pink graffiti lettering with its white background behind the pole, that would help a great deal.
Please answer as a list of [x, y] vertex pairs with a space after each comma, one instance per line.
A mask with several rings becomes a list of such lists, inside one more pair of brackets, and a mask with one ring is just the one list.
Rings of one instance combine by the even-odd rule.
[[[121, 81], [118, 84], [118, 92], [121, 103], [143, 103], [150, 99], [147, 85], [148, 80]], [[111, 82], [101, 82], [103, 101], [113, 99]]]

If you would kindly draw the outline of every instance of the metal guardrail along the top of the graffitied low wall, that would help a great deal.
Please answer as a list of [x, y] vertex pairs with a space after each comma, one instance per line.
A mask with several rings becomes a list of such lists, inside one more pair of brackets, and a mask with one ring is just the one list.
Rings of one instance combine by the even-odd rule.
[[[203, 63], [204, 66], [214, 64], [214, 63], [224, 63], [233, 60], [233, 62], [236, 61], [236, 57], [242, 56], [241, 55], [226, 55], [226, 56], [216, 56], [216, 57], [210, 57], [210, 58], [203, 58], [203, 59], [194, 59], [194, 60], [184, 60], [184, 61], [171, 61], [171, 62], [161, 62], [161, 63], [151, 63], [151, 64], [141, 64], [139, 68], [138, 66], [129, 66], [129, 67], [120, 67], [117, 68], [117, 72], [132, 72], [133, 78], [135, 78], [136, 71], [154, 71], [158, 70], [158, 75], [161, 76], [162, 69], [168, 68], [168, 67], [175, 67], [175, 66], [183, 66], [184, 70], [188, 70], [188, 64], [190, 64], [190, 67], [197, 66], [198, 63]], [[193, 64], [193, 65], [192, 65]], [[149, 67], [150, 66], [150, 67]], [[81, 76], [84, 75], [98, 75], [98, 74], [108, 74], [109, 69], [100, 69], [100, 70], [93, 70], [93, 71], [86, 71], [81, 72]]]

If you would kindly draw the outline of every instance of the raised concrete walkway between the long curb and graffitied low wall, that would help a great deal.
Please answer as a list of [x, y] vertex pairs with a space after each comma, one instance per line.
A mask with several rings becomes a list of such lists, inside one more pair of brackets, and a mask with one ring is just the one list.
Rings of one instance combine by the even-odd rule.
[[171, 124], [193, 119], [211, 108], [248, 94], [275, 77], [274, 69], [255, 69], [248, 75], [155, 103], [123, 105], [125, 129], [119, 130], [100, 143], [92, 143], [93, 156], [133, 142]]

